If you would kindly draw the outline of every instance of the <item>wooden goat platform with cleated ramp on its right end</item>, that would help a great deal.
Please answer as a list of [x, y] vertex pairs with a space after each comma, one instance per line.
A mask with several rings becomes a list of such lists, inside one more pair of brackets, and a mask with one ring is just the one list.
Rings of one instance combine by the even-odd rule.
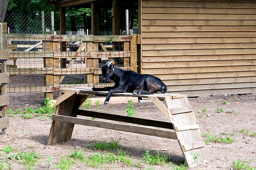
[[[204, 149], [205, 143], [201, 139], [199, 126], [196, 124], [196, 117], [188, 103], [187, 95], [171, 93], [151, 95], [112, 94], [112, 96], [149, 98], [170, 121], [160, 122], [80, 110], [79, 107], [89, 96], [106, 96], [108, 92], [94, 92], [91, 87], [68, 87], [60, 90], [62, 95], [56, 101], [56, 113], [52, 115], [53, 122], [47, 144], [52, 145], [70, 140], [74, 125], [81, 124], [175, 139], [178, 140], [184, 159], [189, 167], [195, 167], [209, 161]], [[164, 101], [164, 103], [161, 101]], [[104, 119], [104, 121], [77, 118], [77, 115], [100, 118]], [[105, 120], [114, 120], [118, 123]]]

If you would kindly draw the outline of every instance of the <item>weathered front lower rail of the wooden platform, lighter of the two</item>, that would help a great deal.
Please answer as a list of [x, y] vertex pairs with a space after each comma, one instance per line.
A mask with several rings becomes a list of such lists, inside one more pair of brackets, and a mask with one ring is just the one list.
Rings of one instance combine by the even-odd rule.
[[169, 139], [176, 139], [176, 140], [178, 139], [176, 132], [170, 131], [170, 130], [140, 127], [140, 126], [105, 122], [105, 121], [99, 121], [99, 120], [82, 119], [82, 118], [62, 116], [62, 115], [52, 115], [52, 120], [59, 121], [59, 122], [75, 123], [75, 124], [86, 125], [86, 126], [93, 126], [98, 128], [139, 133], [139, 134], [150, 135], [150, 136], [164, 137]]

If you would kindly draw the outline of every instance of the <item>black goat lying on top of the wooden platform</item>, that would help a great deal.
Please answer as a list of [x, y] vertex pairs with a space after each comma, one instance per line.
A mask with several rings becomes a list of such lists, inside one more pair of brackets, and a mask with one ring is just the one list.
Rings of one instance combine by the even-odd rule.
[[122, 70], [116, 67], [114, 61], [108, 61], [102, 68], [101, 81], [115, 82], [113, 87], [95, 88], [93, 91], [109, 91], [104, 104], [109, 102], [112, 93], [132, 92], [133, 94], [166, 93], [166, 85], [157, 77], [148, 74], [139, 74], [132, 70]]

